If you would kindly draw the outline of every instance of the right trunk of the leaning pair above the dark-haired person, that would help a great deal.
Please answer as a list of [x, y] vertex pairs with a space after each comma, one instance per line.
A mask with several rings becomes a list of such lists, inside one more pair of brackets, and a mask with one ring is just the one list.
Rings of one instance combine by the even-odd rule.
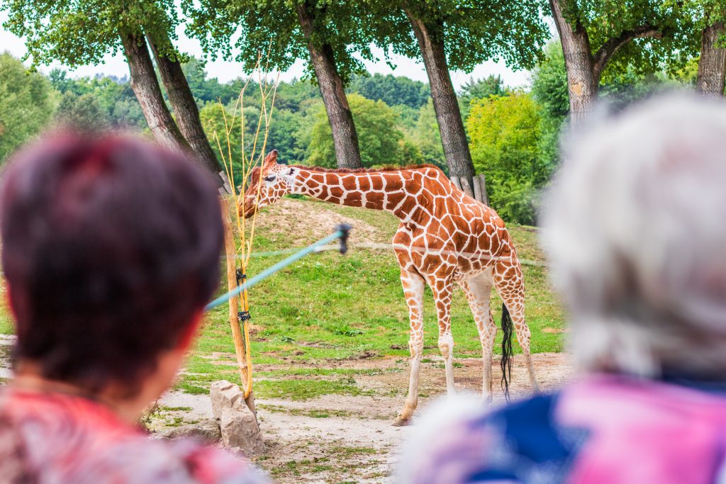
[[189, 83], [181, 70], [181, 64], [176, 59], [166, 55], [160, 55], [160, 48], [171, 46], [168, 38], [148, 38], [151, 50], [154, 53], [156, 65], [159, 68], [161, 81], [164, 83], [166, 93], [171, 102], [171, 108], [176, 115], [176, 125], [179, 126], [181, 134], [187, 139], [201, 163], [214, 175], [219, 186], [222, 179], [219, 173], [222, 167], [212, 150], [207, 136], [202, 128], [202, 121], [199, 118], [197, 102], [189, 89]]

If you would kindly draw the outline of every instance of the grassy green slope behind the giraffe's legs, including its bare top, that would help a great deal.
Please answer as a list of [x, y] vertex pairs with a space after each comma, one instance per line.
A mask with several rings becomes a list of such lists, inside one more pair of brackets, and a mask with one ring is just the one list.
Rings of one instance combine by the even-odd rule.
[[[362, 369], [324, 368], [335, 361], [408, 356], [408, 310], [391, 249], [356, 247], [362, 243], [388, 244], [398, 221], [388, 213], [341, 207], [317, 200], [286, 198], [258, 216], [255, 251], [303, 247], [334, 231], [340, 222], [354, 226], [351, 250], [309, 255], [250, 291], [253, 317], [252, 353], [258, 396], [310, 396], [322, 393], [355, 394], [351, 374]], [[510, 226], [520, 258], [542, 263], [536, 229]], [[254, 258], [253, 275], [282, 259]], [[533, 353], [563, 348], [563, 310], [553, 297], [543, 266], [524, 266], [526, 319]], [[493, 294], [492, 311], [499, 324], [501, 300]], [[473, 317], [460, 290], [452, 307], [454, 358], [481, 357]], [[177, 387], [205, 393], [208, 383], [224, 377], [238, 380], [231, 366], [234, 346], [227, 306], [211, 312], [187, 374]], [[499, 345], [501, 332], [498, 333]], [[438, 326], [431, 291], [425, 293], [424, 358], [439, 356]], [[515, 345], [515, 351], [519, 351]], [[495, 349], [499, 353], [499, 349]], [[224, 364], [227, 362], [227, 364]], [[330, 376], [339, 377], [331, 385]], [[325, 377], [325, 385], [314, 380]]]

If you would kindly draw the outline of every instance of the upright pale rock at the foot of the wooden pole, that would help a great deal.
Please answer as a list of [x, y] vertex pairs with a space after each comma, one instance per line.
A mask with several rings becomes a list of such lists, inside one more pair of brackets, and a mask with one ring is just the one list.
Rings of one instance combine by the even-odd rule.
[[212, 414], [219, 422], [222, 444], [246, 456], [264, 454], [257, 417], [245, 403], [242, 389], [232, 382], [213, 382], [209, 396], [212, 400]]

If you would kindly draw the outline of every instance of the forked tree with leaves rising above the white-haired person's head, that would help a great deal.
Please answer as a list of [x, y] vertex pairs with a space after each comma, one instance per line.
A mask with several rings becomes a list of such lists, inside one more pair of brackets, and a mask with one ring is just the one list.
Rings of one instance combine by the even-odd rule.
[[550, 10], [565, 57], [573, 124], [592, 110], [608, 65], [655, 72], [695, 50], [692, 19], [679, 1], [550, 0]]

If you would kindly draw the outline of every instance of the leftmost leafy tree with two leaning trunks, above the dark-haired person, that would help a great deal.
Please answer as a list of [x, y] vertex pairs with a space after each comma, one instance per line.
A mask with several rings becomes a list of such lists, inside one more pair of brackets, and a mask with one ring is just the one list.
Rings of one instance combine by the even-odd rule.
[[[203, 136], [196, 104], [188, 103], [189, 86], [183, 75], [179, 77], [181, 70], [176, 71], [177, 53], [168, 40], [179, 25], [173, 0], [11, 0], [0, 8], [9, 14], [4, 26], [26, 38], [27, 57], [36, 65], [58, 60], [76, 67], [101, 62], [108, 53], [123, 52], [129, 62], [131, 88], [155, 138], [168, 146], [192, 150], [211, 172], [221, 171]], [[161, 71], [165, 60], [171, 59], [164, 80], [179, 125], [161, 94], [147, 37], [163, 44], [163, 49], [155, 50]]]

